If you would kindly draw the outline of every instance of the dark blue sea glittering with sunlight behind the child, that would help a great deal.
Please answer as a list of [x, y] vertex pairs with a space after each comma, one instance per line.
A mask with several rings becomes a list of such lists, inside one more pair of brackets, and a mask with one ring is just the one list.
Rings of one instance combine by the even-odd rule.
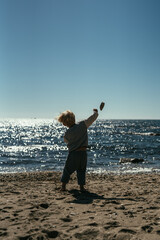
[[[1, 119], [0, 173], [62, 171], [65, 131], [52, 119]], [[97, 120], [88, 138], [88, 172], [160, 172], [160, 120]]]

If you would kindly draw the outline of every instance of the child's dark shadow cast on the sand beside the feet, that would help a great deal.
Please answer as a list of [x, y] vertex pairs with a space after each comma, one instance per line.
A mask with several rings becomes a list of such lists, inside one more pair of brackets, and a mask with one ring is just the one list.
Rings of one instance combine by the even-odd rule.
[[77, 204], [91, 204], [93, 203], [94, 199], [100, 199], [105, 200], [104, 195], [98, 195], [96, 193], [91, 193], [88, 191], [80, 192], [76, 189], [70, 190], [70, 194], [75, 198], [73, 201], [70, 201], [70, 203], [77, 203]]

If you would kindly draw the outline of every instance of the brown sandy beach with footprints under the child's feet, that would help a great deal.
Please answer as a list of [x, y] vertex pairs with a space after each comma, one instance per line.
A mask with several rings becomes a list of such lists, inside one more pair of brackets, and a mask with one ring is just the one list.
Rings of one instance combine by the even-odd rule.
[[0, 175], [1, 240], [160, 239], [160, 174], [87, 174], [86, 193], [60, 175]]

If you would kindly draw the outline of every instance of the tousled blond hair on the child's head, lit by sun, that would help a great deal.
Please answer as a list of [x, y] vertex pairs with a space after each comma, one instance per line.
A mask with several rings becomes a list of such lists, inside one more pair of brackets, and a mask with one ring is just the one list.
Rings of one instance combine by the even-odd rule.
[[71, 127], [73, 124], [75, 124], [75, 115], [70, 110], [67, 110], [63, 113], [61, 113], [57, 117], [58, 122], [62, 123], [64, 126]]

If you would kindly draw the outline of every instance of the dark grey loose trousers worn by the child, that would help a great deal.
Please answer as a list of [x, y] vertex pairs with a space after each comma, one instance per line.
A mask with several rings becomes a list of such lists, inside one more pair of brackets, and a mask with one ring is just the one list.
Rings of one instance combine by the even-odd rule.
[[70, 175], [76, 171], [78, 184], [85, 185], [86, 167], [87, 167], [86, 151], [70, 152], [65, 163], [61, 182], [68, 183]]

